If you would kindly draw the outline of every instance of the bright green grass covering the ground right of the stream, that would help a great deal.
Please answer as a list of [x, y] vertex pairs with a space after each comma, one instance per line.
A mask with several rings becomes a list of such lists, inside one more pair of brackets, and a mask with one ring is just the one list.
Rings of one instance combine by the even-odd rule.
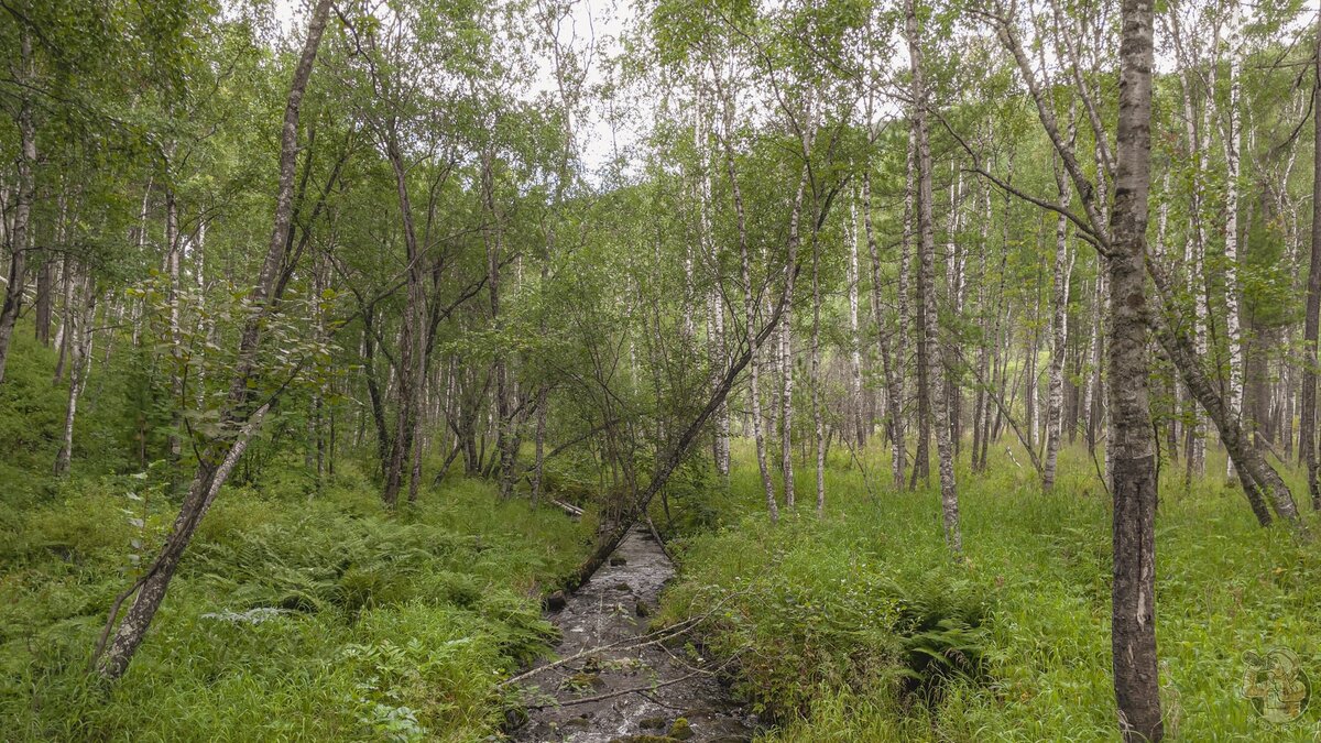
[[[881, 460], [869, 457], [873, 488], [885, 480]], [[676, 539], [682, 574], [662, 617], [724, 596], [707, 641], [738, 654], [736, 690], [774, 721], [768, 740], [1118, 739], [1110, 510], [1086, 452], [1065, 452], [1050, 494], [1007, 457], [985, 475], [960, 468], [963, 565], [945, 547], [934, 489], [871, 498], [841, 453], [827, 472], [824, 517], [807, 464], [799, 505], [771, 528], [756, 465], [740, 461], [713, 501], [721, 526]], [[1258, 528], [1242, 494], [1221, 485], [1223, 459], [1207, 472], [1190, 489], [1181, 468], [1162, 472], [1166, 731], [1317, 739], [1316, 709], [1275, 726], [1239, 690], [1250, 650], [1285, 646], [1321, 674], [1321, 555], [1284, 529]]]

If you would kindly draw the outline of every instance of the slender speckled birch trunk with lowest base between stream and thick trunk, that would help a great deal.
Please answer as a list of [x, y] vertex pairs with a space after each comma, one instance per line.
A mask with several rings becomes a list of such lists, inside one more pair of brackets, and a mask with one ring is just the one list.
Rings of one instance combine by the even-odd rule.
[[[922, 304], [922, 338], [926, 349], [927, 394], [931, 395], [931, 427], [935, 428], [941, 465], [941, 512], [945, 541], [956, 555], [963, 554], [959, 533], [959, 494], [954, 483], [954, 440], [950, 431], [948, 401], [941, 379], [939, 319], [935, 313], [935, 229], [931, 218], [931, 143], [926, 131], [926, 87], [922, 79], [922, 46], [918, 40], [915, 0], [905, 3], [905, 30], [913, 71], [913, 135], [917, 141], [917, 225], [918, 225], [918, 295]], [[921, 394], [921, 391], [919, 391]]]

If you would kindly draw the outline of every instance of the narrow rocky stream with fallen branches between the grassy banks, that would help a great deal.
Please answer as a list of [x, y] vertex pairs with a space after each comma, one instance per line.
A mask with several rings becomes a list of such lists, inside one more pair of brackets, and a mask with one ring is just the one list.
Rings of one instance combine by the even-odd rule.
[[683, 635], [649, 635], [660, 588], [674, 576], [651, 533], [635, 526], [564, 608], [550, 615], [555, 658], [520, 681], [531, 705], [510, 731], [520, 743], [750, 740], [756, 717], [736, 705], [717, 668]]

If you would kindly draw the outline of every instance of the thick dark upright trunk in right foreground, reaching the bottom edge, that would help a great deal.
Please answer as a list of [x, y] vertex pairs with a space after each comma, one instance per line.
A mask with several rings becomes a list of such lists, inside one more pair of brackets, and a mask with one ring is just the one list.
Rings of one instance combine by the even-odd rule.
[[1114, 453], [1111, 648], [1127, 742], [1160, 740], [1156, 660], [1156, 435], [1147, 386], [1147, 196], [1152, 5], [1123, 0], [1115, 202], [1110, 213], [1110, 446]]

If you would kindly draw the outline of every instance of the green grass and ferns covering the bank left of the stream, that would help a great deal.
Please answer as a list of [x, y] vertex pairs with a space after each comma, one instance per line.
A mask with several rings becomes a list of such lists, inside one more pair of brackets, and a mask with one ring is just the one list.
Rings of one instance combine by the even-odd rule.
[[495, 734], [497, 682], [552, 639], [536, 587], [577, 563], [588, 534], [476, 481], [388, 517], [351, 465], [339, 471], [310, 502], [223, 493], [110, 690], [86, 673], [92, 644], [173, 506], [153, 502], [149, 480], [104, 477], [24, 512], [0, 533], [5, 738]]

